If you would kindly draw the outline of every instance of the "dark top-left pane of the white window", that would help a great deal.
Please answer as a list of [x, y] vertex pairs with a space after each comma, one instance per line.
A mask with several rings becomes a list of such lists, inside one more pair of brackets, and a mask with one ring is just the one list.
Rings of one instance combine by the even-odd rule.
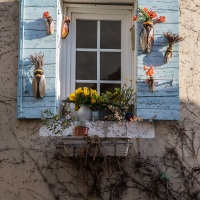
[[77, 48], [97, 48], [97, 21], [77, 20]]

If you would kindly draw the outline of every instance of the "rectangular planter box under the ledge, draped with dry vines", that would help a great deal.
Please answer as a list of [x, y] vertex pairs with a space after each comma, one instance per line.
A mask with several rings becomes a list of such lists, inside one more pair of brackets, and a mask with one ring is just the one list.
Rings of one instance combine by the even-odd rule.
[[66, 157], [126, 157], [131, 146], [129, 137], [65, 137], [57, 144], [57, 153]]

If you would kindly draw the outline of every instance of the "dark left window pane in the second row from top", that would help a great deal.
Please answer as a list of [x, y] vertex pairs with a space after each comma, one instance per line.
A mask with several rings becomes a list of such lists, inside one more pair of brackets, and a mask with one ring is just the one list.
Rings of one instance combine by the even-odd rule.
[[76, 80], [97, 79], [97, 53], [76, 52]]

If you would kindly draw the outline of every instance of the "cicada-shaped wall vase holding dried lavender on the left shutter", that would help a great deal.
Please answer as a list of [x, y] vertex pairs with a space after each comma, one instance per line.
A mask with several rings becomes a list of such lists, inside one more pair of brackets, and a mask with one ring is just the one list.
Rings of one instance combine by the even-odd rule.
[[32, 82], [33, 94], [36, 98], [42, 98], [46, 91], [46, 79], [42, 69], [42, 66], [44, 65], [44, 55], [42, 53], [30, 55], [30, 59], [35, 65]]

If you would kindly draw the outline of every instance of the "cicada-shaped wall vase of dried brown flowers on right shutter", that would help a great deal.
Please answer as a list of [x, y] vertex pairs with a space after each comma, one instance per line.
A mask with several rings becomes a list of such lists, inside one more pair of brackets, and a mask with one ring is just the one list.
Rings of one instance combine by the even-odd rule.
[[164, 60], [166, 63], [170, 61], [172, 58], [173, 53], [173, 45], [175, 43], [183, 41], [183, 38], [180, 37], [178, 34], [173, 34], [170, 32], [163, 33], [164, 37], [168, 40], [169, 46], [167, 47], [167, 50], [165, 51]]

